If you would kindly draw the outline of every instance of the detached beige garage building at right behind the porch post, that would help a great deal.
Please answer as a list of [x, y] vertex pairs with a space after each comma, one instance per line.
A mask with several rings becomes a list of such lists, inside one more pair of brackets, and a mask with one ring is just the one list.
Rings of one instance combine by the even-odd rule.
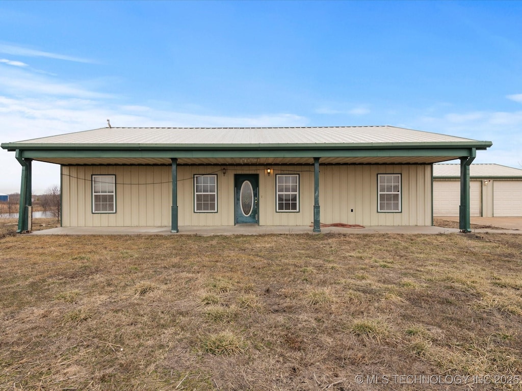
[[[522, 216], [522, 169], [500, 164], [469, 167], [470, 216]], [[433, 215], [458, 216], [460, 166], [433, 165]]]

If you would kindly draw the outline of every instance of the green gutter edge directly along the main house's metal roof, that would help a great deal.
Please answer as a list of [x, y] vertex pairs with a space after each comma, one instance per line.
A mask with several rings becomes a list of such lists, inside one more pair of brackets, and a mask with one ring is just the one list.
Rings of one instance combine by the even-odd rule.
[[15, 150], [162, 150], [162, 151], [259, 151], [259, 150], [372, 150], [372, 149], [440, 149], [477, 148], [487, 149], [491, 141], [452, 141], [452, 142], [400, 142], [400, 143], [295, 143], [295, 144], [77, 144], [77, 143], [2, 143], [3, 149]]

